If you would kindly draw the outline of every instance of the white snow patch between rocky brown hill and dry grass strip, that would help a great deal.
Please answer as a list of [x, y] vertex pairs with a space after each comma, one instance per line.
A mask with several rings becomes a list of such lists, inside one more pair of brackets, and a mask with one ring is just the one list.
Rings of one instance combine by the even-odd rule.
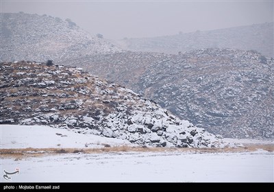
[[16, 148], [85, 148], [109, 145], [132, 145], [122, 139], [93, 134], [77, 134], [66, 129], [54, 129], [42, 125], [0, 125], [1, 149]]

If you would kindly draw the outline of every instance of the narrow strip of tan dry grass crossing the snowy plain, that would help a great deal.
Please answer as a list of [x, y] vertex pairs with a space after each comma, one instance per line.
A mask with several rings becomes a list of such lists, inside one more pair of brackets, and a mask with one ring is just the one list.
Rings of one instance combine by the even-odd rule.
[[99, 154], [105, 152], [192, 152], [192, 153], [239, 153], [255, 152], [258, 149], [264, 149], [268, 152], [274, 152], [274, 145], [246, 145], [245, 147], [225, 147], [225, 148], [167, 148], [167, 147], [130, 147], [109, 146], [104, 144], [102, 148], [24, 148], [24, 149], [1, 149], [1, 158], [14, 158], [21, 160], [23, 158], [44, 156], [49, 154]]

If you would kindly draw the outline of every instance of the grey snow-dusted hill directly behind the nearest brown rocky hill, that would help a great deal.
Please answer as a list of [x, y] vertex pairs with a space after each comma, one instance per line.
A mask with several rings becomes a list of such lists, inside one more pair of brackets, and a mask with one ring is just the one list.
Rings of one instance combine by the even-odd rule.
[[214, 134], [274, 138], [274, 62], [256, 51], [129, 52], [78, 64]]

